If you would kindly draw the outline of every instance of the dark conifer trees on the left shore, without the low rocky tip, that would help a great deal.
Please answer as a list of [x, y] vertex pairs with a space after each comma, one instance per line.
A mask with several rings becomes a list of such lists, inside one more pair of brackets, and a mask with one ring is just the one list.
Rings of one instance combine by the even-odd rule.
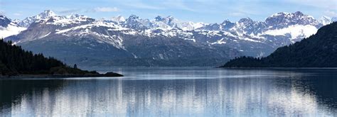
[[11, 41], [0, 40], [0, 75], [97, 73], [68, 67], [53, 57], [33, 54], [12, 44]]

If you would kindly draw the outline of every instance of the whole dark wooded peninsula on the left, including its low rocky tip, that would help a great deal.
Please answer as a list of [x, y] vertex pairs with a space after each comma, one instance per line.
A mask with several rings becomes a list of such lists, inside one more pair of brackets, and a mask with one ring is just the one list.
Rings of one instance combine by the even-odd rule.
[[33, 54], [20, 46], [0, 40], [0, 78], [65, 78], [65, 77], [122, 77], [122, 74], [78, 69], [69, 67], [53, 57]]

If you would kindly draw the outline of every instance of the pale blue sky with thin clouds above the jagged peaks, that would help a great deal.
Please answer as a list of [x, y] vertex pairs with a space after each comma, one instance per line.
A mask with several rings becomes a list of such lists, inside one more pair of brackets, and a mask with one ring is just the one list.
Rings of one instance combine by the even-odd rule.
[[250, 17], [264, 21], [277, 12], [303, 13], [320, 18], [337, 16], [337, 0], [0, 0], [0, 13], [23, 19], [45, 9], [58, 15], [79, 13], [93, 18], [135, 14], [140, 18], [173, 16], [182, 21], [220, 23]]

